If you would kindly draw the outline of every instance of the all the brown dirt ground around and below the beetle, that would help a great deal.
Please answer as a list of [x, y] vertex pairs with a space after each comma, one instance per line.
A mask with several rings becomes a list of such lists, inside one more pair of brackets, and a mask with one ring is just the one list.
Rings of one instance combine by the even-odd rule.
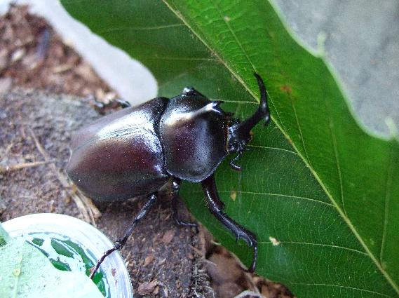
[[[65, 175], [71, 133], [100, 116], [89, 97], [116, 96], [45, 20], [25, 7], [0, 17], [0, 221], [56, 212], [95, 224], [110, 238], [121, 235], [143, 201], [94, 205]], [[135, 297], [293, 297], [245, 273], [204, 229], [175, 226], [167, 193], [122, 255]]]

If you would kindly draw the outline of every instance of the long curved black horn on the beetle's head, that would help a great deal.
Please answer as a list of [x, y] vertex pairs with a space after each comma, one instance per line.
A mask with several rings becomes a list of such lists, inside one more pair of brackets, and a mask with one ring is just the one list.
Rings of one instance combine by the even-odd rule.
[[254, 126], [256, 126], [257, 123], [262, 119], [264, 119], [265, 121], [265, 126], [269, 124], [270, 121], [270, 111], [269, 106], [267, 105], [266, 87], [264, 86], [263, 80], [259, 76], [259, 74], [255, 73], [255, 77], [257, 78], [257, 83], [260, 91], [260, 104], [257, 111], [255, 111], [255, 114], [239, 124], [237, 128], [239, 135], [248, 135], [250, 133], [250, 130]]

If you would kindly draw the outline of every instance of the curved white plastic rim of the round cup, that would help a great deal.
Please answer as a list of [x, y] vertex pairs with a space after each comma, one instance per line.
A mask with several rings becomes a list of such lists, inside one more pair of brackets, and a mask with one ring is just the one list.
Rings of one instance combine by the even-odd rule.
[[[10, 219], [2, 223], [11, 237], [24, 237], [29, 233], [50, 232], [69, 237], [93, 253], [96, 259], [112, 248], [113, 243], [91, 224], [76, 217], [55, 213], [39, 213]], [[101, 264], [113, 297], [133, 298], [128, 269], [119, 252], [113, 252]]]

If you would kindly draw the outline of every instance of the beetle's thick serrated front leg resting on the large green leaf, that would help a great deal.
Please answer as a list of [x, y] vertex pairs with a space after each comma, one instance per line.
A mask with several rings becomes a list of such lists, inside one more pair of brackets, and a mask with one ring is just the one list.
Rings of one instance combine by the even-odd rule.
[[257, 262], [257, 238], [255, 234], [243, 228], [243, 226], [239, 225], [238, 223], [234, 222], [233, 219], [231, 219], [228, 215], [222, 212], [222, 209], [219, 208], [219, 202], [221, 201], [219, 198], [219, 194], [217, 194], [215, 177], [213, 177], [213, 174], [203, 180], [201, 184], [206, 196], [206, 200], [208, 201], [208, 208], [212, 215], [215, 215], [219, 222], [226, 226], [226, 228], [229, 229], [231, 233], [234, 233], [234, 236], [236, 236], [236, 241], [241, 238], [251, 248], [253, 248], [254, 255], [252, 259], [252, 264], [248, 269], [249, 272], [253, 272], [255, 270]]

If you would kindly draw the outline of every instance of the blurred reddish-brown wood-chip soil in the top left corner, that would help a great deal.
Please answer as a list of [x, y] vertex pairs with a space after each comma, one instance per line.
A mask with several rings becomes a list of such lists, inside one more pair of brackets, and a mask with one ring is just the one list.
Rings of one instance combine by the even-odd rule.
[[94, 93], [100, 99], [111, 93], [90, 65], [46, 20], [29, 14], [27, 6], [12, 6], [0, 18], [0, 76], [13, 79], [15, 86], [51, 93], [83, 97]]

